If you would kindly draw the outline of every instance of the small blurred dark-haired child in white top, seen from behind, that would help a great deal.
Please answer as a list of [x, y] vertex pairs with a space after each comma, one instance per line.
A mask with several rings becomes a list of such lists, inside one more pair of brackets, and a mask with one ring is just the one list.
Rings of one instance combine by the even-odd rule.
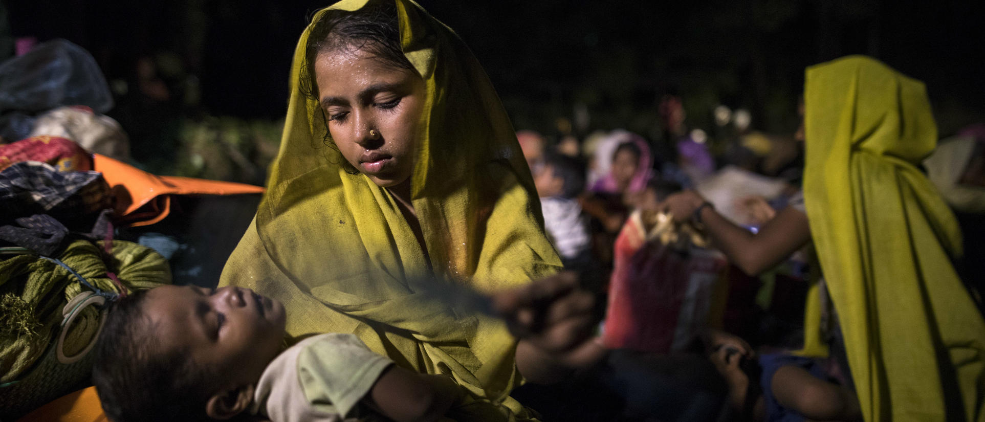
[[534, 186], [541, 197], [548, 238], [564, 268], [583, 266], [589, 261], [591, 241], [577, 200], [585, 188], [584, 166], [576, 158], [550, 154], [535, 174]]

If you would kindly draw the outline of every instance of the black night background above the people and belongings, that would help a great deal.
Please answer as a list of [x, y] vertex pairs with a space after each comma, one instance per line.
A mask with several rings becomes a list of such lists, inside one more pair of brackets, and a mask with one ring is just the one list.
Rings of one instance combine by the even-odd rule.
[[[310, 13], [330, 3], [4, 4], [15, 37], [64, 37], [93, 53], [118, 97], [108, 114], [130, 134], [139, 159], [168, 156], [164, 147], [140, 147], [168, 145], [161, 140], [167, 116], [283, 118], [297, 36]], [[623, 127], [655, 138], [657, 104], [666, 93], [683, 98], [690, 127], [711, 126], [711, 109], [725, 104], [752, 111], [756, 129], [790, 133], [804, 68], [852, 53], [924, 81], [942, 138], [985, 120], [981, 1], [422, 4], [471, 46], [514, 126], [549, 136], [569, 126], [558, 124], [564, 118], [575, 122], [575, 135]], [[574, 118], [576, 109], [590, 120]]]

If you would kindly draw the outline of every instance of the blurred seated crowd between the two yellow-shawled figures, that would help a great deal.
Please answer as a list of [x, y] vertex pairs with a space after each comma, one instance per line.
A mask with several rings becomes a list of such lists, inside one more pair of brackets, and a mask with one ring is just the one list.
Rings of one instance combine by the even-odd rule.
[[718, 127], [689, 128], [682, 99], [674, 95], [665, 96], [660, 109], [666, 129], [659, 139], [624, 129], [580, 140], [517, 132], [548, 232], [568, 266], [591, 262], [611, 270], [615, 239], [630, 215], [638, 211], [652, 226], [663, 200], [685, 189], [734, 197], [713, 202], [754, 231], [799, 190], [803, 128], [789, 135], [757, 132], [749, 111], [724, 105], [714, 110]]

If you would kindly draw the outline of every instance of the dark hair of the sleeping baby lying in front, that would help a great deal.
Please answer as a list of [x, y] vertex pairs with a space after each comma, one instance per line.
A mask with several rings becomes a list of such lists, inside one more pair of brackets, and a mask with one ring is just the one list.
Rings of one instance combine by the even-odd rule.
[[93, 384], [113, 422], [207, 421], [217, 374], [183, 350], [162, 350], [144, 313], [150, 290], [114, 303], [94, 349]]

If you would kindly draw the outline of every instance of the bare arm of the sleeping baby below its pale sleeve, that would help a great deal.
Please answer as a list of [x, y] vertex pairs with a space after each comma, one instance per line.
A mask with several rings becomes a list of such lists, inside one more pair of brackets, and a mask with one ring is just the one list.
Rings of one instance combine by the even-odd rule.
[[449, 377], [390, 365], [362, 400], [396, 422], [429, 422], [443, 416], [459, 394]]

